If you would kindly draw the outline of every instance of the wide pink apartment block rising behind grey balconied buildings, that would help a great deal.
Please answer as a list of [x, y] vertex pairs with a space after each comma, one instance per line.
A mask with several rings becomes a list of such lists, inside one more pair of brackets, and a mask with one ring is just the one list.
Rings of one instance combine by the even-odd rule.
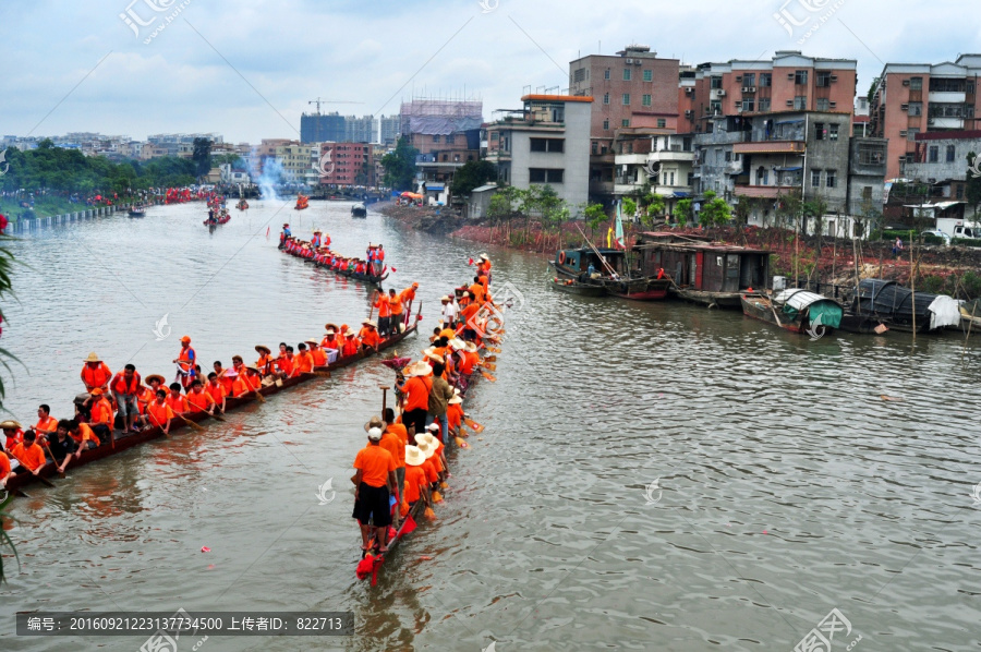
[[770, 61], [702, 63], [693, 76], [681, 79], [678, 131], [711, 132], [713, 120], [741, 113], [794, 110], [851, 114], [857, 69], [855, 59], [806, 57], [798, 50], [778, 50]]

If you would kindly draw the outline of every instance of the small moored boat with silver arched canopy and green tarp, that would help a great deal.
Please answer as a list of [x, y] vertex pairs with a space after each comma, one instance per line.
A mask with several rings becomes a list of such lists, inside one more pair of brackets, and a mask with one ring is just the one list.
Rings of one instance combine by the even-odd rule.
[[831, 334], [841, 325], [841, 305], [808, 290], [783, 290], [776, 295], [747, 292], [742, 314], [790, 333], [808, 334], [813, 339]]

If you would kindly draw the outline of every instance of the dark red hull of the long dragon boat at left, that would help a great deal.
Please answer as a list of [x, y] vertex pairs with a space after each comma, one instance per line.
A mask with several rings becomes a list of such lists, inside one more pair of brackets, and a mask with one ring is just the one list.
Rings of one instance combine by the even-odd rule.
[[[420, 310], [422, 310], [421, 304], [420, 304]], [[366, 358], [372, 358], [372, 357], [376, 355], [377, 353], [396, 346], [397, 343], [399, 343], [400, 341], [402, 341], [410, 335], [413, 335], [416, 330], [417, 330], [417, 323], [411, 323], [405, 328], [404, 333], [400, 333], [399, 335], [395, 335], [395, 336], [384, 340], [379, 345], [378, 351], [375, 351], [372, 353], [359, 352], [356, 355], [349, 355], [347, 358], [341, 358], [341, 359], [335, 361], [332, 364], [314, 367], [314, 371], [315, 372], [325, 372], [325, 371], [329, 372], [329, 371], [334, 371], [334, 370], [338, 370], [338, 369], [343, 369], [346, 366], [350, 366], [352, 364], [361, 362], [362, 360], [364, 360]], [[259, 394], [263, 395], [263, 397], [268, 397], [268, 396], [272, 396], [275, 394], [279, 394], [280, 391], [283, 391], [284, 389], [290, 389], [291, 387], [295, 387], [296, 385], [302, 385], [303, 383], [307, 383], [310, 381], [313, 381], [316, 378], [322, 378], [322, 377], [323, 376], [319, 376], [316, 373], [303, 374], [303, 375], [296, 376], [294, 378], [287, 378], [287, 379], [282, 381], [281, 385], [269, 385], [267, 387], [263, 387], [258, 391], [259, 391]], [[239, 398], [229, 398], [229, 399], [227, 399], [227, 402], [226, 402], [226, 413], [231, 410], [241, 408], [244, 405], [252, 403], [256, 400], [258, 400], [258, 399], [256, 399], [254, 395], [246, 395], [246, 396], [239, 397]], [[191, 421], [194, 421], [194, 422], [202, 422], [207, 419], [210, 419], [210, 416], [208, 416], [206, 412], [198, 412], [196, 414], [191, 414], [187, 419], [190, 419]], [[190, 427], [190, 426], [187, 426], [185, 423], [183, 423], [181, 421], [175, 421], [175, 422], [171, 423], [170, 433], [173, 434], [174, 432], [179, 432], [185, 427]], [[116, 436], [114, 444], [104, 443], [98, 448], [93, 448], [90, 450], [83, 451], [82, 456], [78, 459], [73, 459], [72, 461], [69, 462], [66, 470], [72, 471], [77, 467], [94, 462], [96, 460], [100, 460], [106, 457], [111, 457], [113, 455], [122, 452], [123, 450], [133, 448], [134, 446], [138, 446], [140, 444], [144, 444], [144, 443], [150, 442], [153, 439], [159, 439], [162, 436], [164, 436], [164, 432], [160, 430], [159, 426], [154, 426], [154, 427], [141, 431], [138, 433], [118, 434]], [[56, 475], [57, 473], [58, 473], [58, 471], [55, 469], [55, 464], [48, 463], [44, 467], [44, 469], [41, 469], [39, 475], [41, 478], [50, 478], [52, 475]], [[21, 475], [15, 475], [15, 476], [11, 478], [10, 480], [8, 480], [7, 486], [11, 493], [16, 494], [20, 492], [20, 490], [23, 486], [31, 484], [35, 480], [36, 480], [36, 478], [33, 474], [24, 473]]]

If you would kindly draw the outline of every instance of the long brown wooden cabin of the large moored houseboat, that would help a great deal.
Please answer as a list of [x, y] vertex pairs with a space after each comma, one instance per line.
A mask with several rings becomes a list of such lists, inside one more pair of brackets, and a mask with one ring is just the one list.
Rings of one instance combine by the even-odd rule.
[[677, 286], [701, 292], [762, 289], [770, 278], [770, 252], [762, 249], [671, 232], [641, 233], [633, 249], [644, 275], [657, 276], [664, 269]]

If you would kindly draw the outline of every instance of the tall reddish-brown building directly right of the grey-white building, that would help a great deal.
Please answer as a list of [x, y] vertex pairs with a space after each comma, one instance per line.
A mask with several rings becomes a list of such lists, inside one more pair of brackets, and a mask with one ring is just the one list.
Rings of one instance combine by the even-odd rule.
[[677, 59], [658, 59], [647, 46], [614, 55], [590, 55], [569, 63], [569, 93], [593, 97], [590, 116], [590, 195], [610, 201], [614, 148], [623, 130], [675, 130], [678, 114]]

